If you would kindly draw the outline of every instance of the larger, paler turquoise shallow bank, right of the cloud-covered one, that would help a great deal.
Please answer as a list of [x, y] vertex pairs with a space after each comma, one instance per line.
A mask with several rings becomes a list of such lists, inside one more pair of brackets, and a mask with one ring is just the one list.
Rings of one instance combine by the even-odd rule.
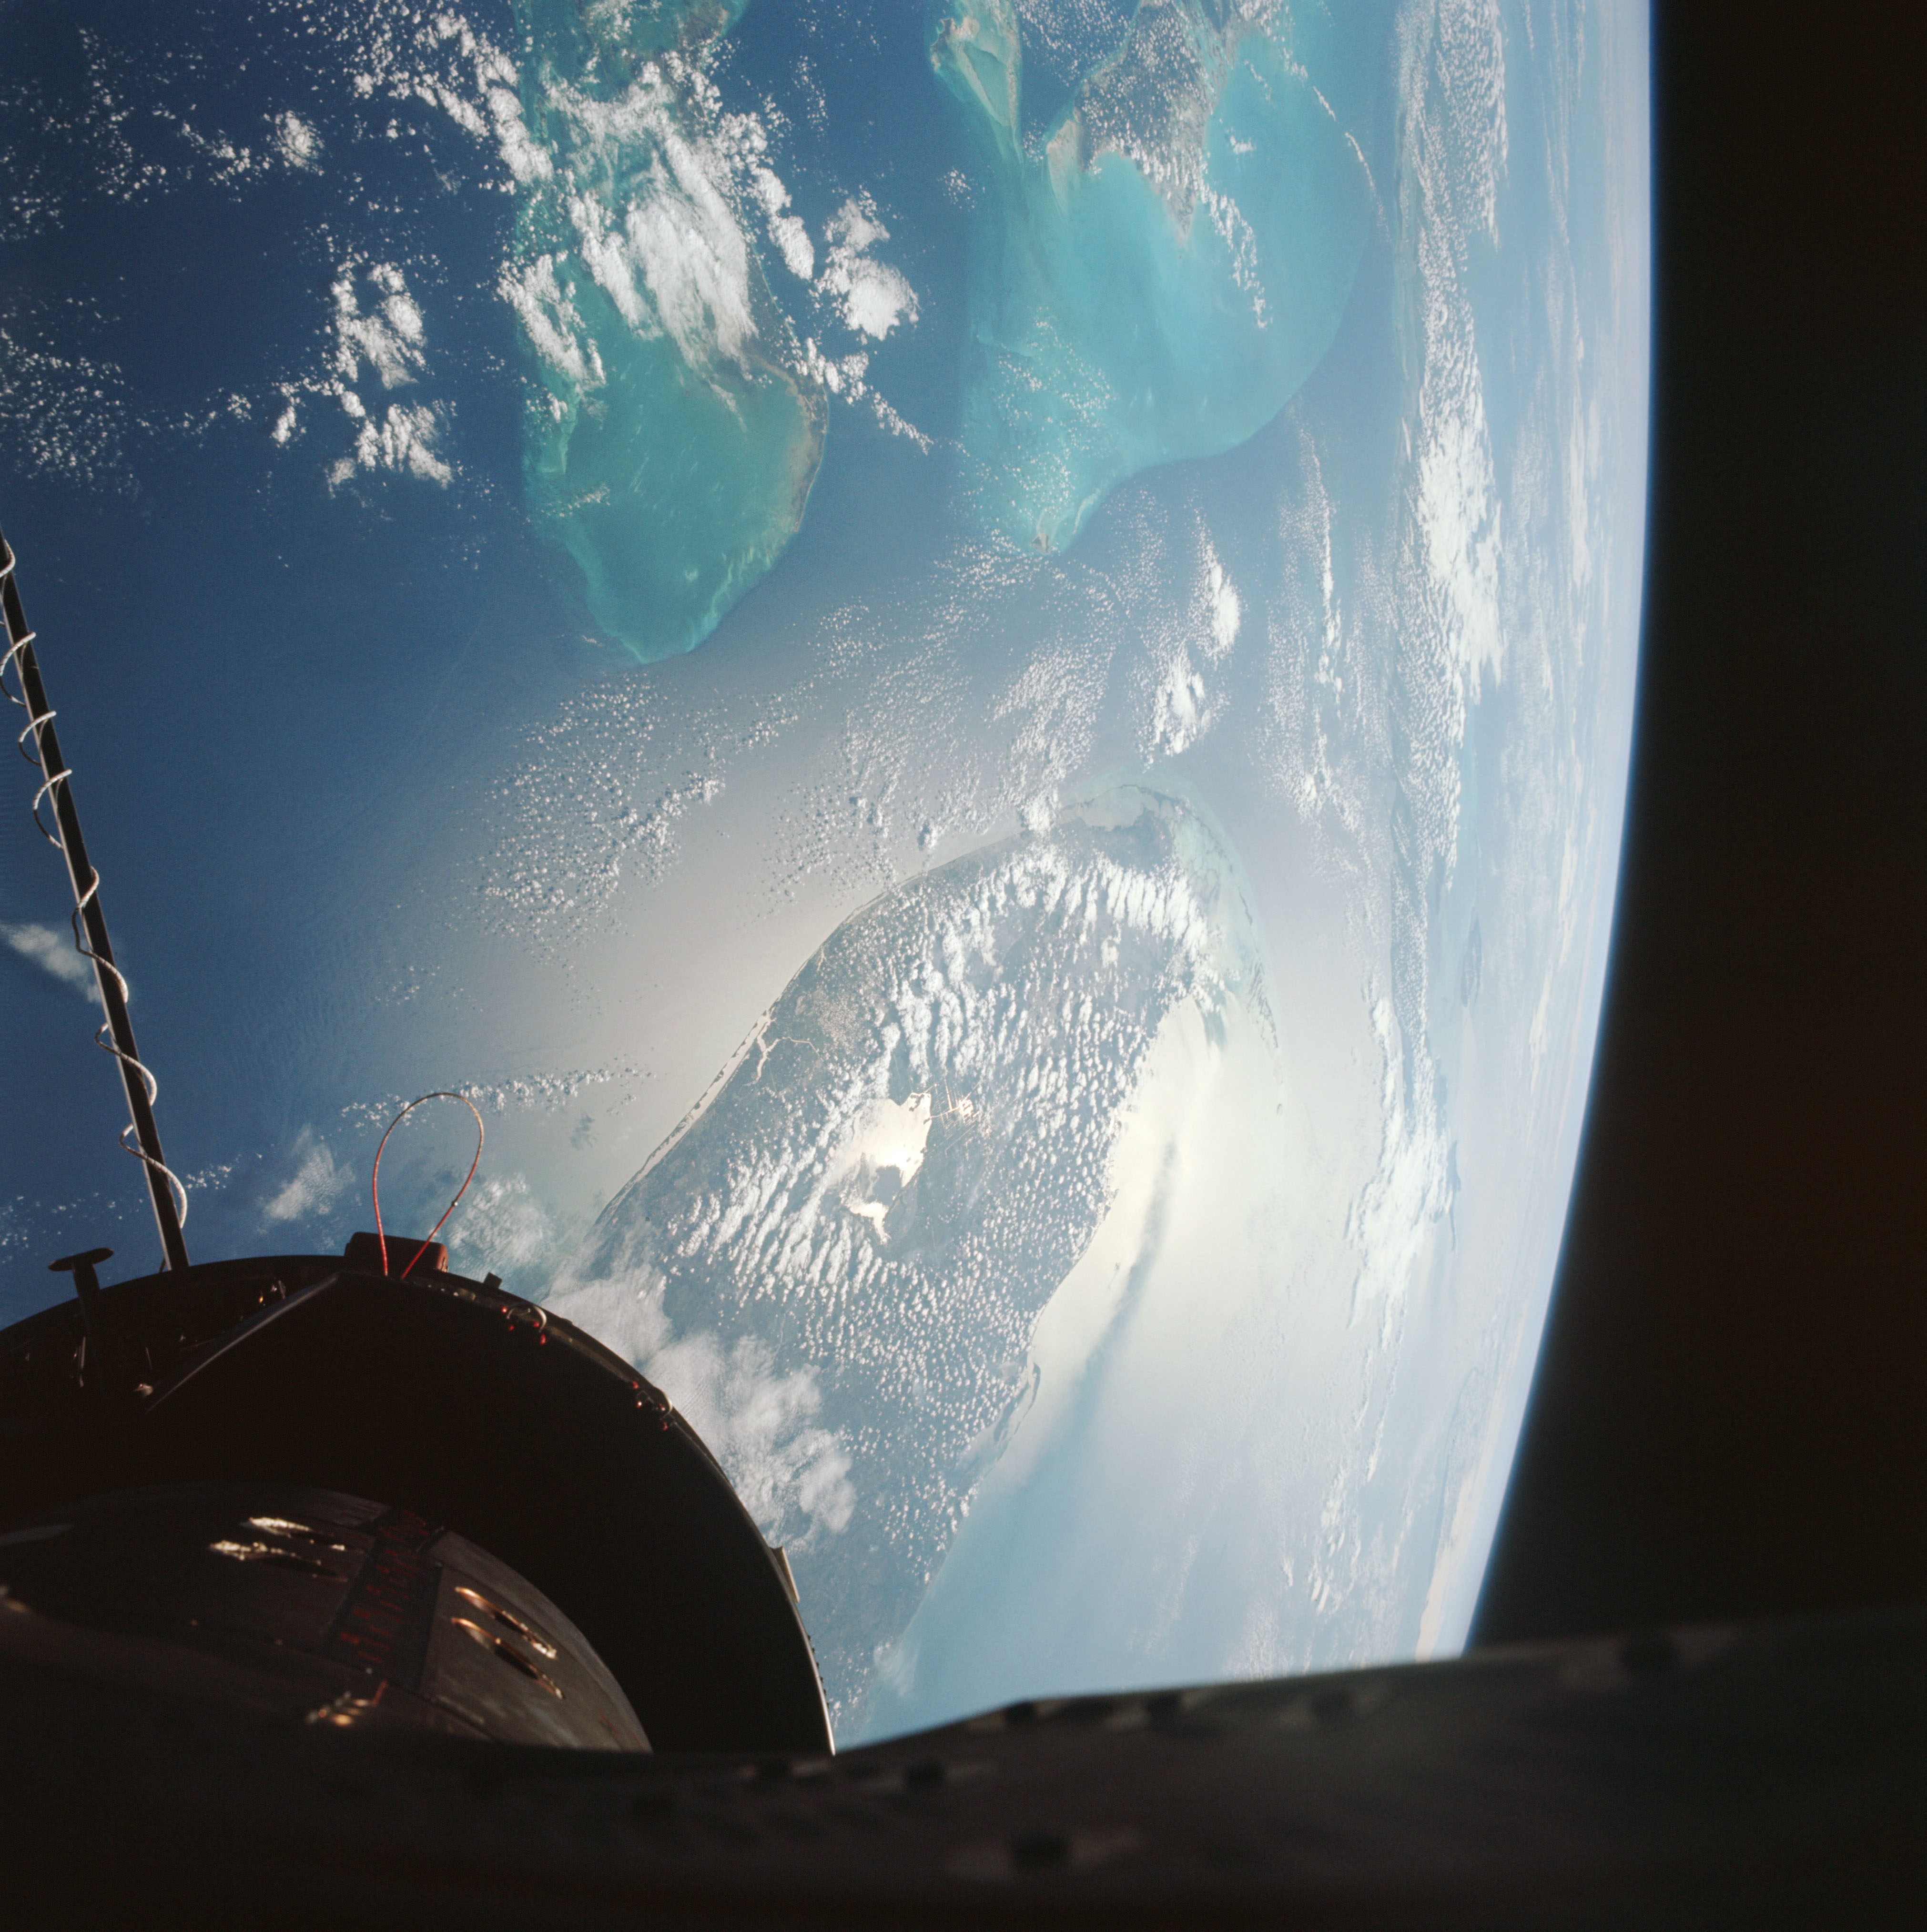
[[1338, 334], [1371, 178], [1286, 29], [1215, 0], [1141, 0], [1041, 143], [1012, 0], [948, 0], [931, 64], [981, 176], [964, 497], [1058, 551], [1126, 477], [1284, 408]]

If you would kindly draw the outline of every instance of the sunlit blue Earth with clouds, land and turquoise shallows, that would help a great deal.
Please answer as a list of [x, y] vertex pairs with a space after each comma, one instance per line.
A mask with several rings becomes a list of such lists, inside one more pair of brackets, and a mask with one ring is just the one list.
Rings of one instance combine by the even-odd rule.
[[[842, 1741], [1464, 1644], [1632, 740], [1632, 0], [6, 0], [0, 526], [197, 1260], [658, 1381]], [[0, 811], [0, 1318], [158, 1265]], [[425, 1233], [473, 1121], [417, 1109]]]

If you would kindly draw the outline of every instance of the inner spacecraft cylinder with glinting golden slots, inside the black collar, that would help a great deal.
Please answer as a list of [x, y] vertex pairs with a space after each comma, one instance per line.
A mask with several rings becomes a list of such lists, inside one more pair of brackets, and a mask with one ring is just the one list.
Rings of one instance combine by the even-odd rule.
[[0, 1532], [10, 1654], [232, 1721], [649, 1750], [525, 1577], [411, 1509], [265, 1482], [116, 1490]]

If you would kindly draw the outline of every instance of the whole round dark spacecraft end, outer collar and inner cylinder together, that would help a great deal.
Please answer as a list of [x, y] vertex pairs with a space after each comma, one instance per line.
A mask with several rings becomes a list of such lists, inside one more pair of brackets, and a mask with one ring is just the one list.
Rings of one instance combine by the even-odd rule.
[[523, 1712], [529, 1685], [573, 1712], [560, 1654], [612, 1679], [616, 1729], [556, 1743], [828, 1748], [788, 1563], [668, 1399], [446, 1250], [386, 1273], [373, 1248], [106, 1289], [98, 1250], [62, 1264], [77, 1300], [0, 1331], [0, 1607], [70, 1633], [25, 1656], [535, 1743], [436, 1685], [473, 1650]]

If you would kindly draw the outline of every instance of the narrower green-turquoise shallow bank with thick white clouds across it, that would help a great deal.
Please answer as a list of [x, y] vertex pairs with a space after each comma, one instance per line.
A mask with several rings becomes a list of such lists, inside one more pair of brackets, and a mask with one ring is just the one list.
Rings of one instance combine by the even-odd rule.
[[768, 572], [823, 460], [823, 388], [743, 232], [741, 131], [707, 77], [745, 6], [516, 6], [523, 479], [641, 659], [693, 649]]

